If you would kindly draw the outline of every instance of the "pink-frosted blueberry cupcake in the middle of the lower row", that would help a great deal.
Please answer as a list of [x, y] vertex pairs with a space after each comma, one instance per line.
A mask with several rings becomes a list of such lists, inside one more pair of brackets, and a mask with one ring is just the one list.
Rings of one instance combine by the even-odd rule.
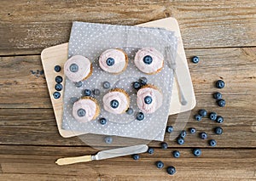
[[130, 105], [128, 93], [121, 88], [112, 89], [102, 100], [104, 109], [113, 114], [125, 113]]

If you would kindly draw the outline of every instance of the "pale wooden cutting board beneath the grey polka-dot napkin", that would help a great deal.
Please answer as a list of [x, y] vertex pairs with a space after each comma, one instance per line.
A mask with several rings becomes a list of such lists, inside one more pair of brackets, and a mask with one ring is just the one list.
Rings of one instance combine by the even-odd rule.
[[[177, 77], [175, 77], [175, 81], [172, 87], [172, 99], [169, 110], [169, 115], [177, 114], [183, 111], [192, 110], [195, 107], [195, 93], [193, 89], [193, 85], [191, 82], [191, 77], [189, 74], [189, 66], [187, 63], [186, 55], [183, 48], [183, 41], [181, 38], [180, 30], [177, 24], [177, 20], [174, 18], [166, 18], [161, 20], [154, 20], [145, 24], [141, 24], [138, 26], [143, 27], [160, 27], [166, 28], [168, 31], [175, 31], [175, 36], [177, 37]], [[42, 64], [44, 67], [44, 74], [46, 77], [47, 86], [49, 89], [49, 96], [51, 99], [51, 103], [53, 105], [53, 109], [55, 111], [55, 119], [57, 122], [59, 133], [62, 137], [68, 138], [73, 136], [78, 136], [83, 133], [73, 132], [69, 130], [64, 130], [61, 128], [62, 115], [63, 115], [63, 89], [61, 90], [61, 98], [54, 99], [53, 93], [55, 92], [55, 76], [63, 77], [63, 88], [65, 83], [65, 76], [63, 73], [63, 69], [60, 72], [55, 72], [55, 65], [64, 66], [67, 61], [67, 53], [68, 53], [68, 42], [60, 45], [56, 45], [54, 47], [45, 48], [41, 53]], [[181, 105], [180, 103], [180, 94], [177, 86], [177, 79], [179, 85], [183, 91], [183, 95], [187, 100], [187, 105]]]

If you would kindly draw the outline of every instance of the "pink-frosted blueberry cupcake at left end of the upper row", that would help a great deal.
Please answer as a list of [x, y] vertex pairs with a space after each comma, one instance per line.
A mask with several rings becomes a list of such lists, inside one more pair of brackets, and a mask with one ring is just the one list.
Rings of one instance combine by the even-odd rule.
[[90, 60], [82, 55], [75, 55], [64, 65], [64, 74], [72, 82], [80, 82], [87, 79], [92, 74]]

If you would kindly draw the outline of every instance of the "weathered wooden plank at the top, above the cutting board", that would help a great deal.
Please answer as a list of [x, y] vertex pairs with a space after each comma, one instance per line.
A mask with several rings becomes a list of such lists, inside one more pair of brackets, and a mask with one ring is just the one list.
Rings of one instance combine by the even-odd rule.
[[137, 25], [172, 16], [185, 48], [255, 46], [255, 1], [90, 1], [4, 0], [0, 8], [0, 54], [39, 54], [68, 42], [73, 20]]

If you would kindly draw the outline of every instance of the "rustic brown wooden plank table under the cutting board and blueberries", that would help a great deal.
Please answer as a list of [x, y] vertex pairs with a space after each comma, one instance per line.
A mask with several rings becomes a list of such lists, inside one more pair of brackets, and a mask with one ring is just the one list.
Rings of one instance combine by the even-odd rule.
[[[256, 179], [256, 2], [233, 1], [14, 1], [0, 3], [0, 180], [235, 180]], [[165, 17], [177, 19], [197, 105], [186, 126], [207, 131], [218, 145], [189, 135], [179, 146], [167, 141], [168, 150], [151, 142], [154, 155], [139, 161], [123, 156], [105, 161], [55, 165], [61, 156], [95, 154], [78, 138], [58, 133], [49, 100], [40, 52], [68, 42], [73, 20], [137, 25]], [[198, 65], [189, 58], [198, 55]], [[212, 99], [214, 83], [227, 105], [218, 108]], [[217, 123], [195, 122], [200, 108], [224, 116], [224, 134], [213, 135]], [[177, 115], [170, 116], [171, 125]], [[199, 147], [195, 158], [191, 149]], [[174, 159], [172, 150], [180, 150]], [[170, 176], [154, 161], [176, 167]]]

